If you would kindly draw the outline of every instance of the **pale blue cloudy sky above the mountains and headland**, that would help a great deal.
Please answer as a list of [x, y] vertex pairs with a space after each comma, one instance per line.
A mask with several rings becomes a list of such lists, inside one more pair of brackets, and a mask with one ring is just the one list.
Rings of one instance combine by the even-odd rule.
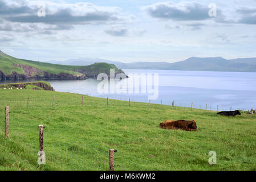
[[256, 0], [0, 0], [0, 49], [36, 61], [256, 57]]

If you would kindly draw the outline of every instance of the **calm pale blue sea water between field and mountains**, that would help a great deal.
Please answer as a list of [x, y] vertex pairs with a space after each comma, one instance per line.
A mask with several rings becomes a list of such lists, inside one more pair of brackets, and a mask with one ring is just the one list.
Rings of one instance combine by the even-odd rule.
[[[158, 98], [151, 103], [217, 110], [232, 110], [251, 108], [256, 109], [256, 73], [244, 72], [204, 72], [204, 71], [167, 71], [123, 69], [128, 75], [131, 73], [144, 73], [145, 75], [159, 75]], [[131, 78], [122, 80], [123, 84]], [[89, 96], [113, 98], [117, 100], [148, 102], [149, 93], [141, 93], [145, 82], [139, 83], [139, 93], [99, 93], [97, 86], [100, 81], [88, 80], [49, 80], [58, 92], [71, 92], [88, 94]], [[116, 84], [119, 81], [116, 81]], [[153, 80], [152, 80], [153, 83]], [[120, 84], [120, 83], [119, 83]], [[108, 85], [110, 88], [110, 85]], [[138, 87], [137, 86], [137, 87]], [[128, 87], [128, 86], [127, 86]], [[128, 88], [124, 88], [128, 90]], [[120, 90], [119, 90], [120, 91]]]

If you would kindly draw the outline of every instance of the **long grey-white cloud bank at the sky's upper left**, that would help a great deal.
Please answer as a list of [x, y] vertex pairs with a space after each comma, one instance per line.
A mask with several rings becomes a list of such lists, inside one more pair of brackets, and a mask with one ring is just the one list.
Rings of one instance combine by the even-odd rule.
[[38, 2], [9, 1], [0, 2], [0, 15], [9, 22], [46, 24], [85, 24], [106, 22], [133, 22], [136, 17], [123, 13], [120, 7], [96, 6], [92, 3], [54, 3], [45, 2], [46, 16], [37, 16]]

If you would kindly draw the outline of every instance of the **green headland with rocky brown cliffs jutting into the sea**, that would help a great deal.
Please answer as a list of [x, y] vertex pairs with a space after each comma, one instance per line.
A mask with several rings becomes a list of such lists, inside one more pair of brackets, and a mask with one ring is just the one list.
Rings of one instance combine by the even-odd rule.
[[17, 59], [0, 51], [0, 81], [27, 78], [48, 80], [96, 78], [99, 73], [109, 75], [110, 69], [115, 69], [115, 74], [123, 73], [121, 69], [108, 63], [94, 63], [88, 66], [50, 64]]

